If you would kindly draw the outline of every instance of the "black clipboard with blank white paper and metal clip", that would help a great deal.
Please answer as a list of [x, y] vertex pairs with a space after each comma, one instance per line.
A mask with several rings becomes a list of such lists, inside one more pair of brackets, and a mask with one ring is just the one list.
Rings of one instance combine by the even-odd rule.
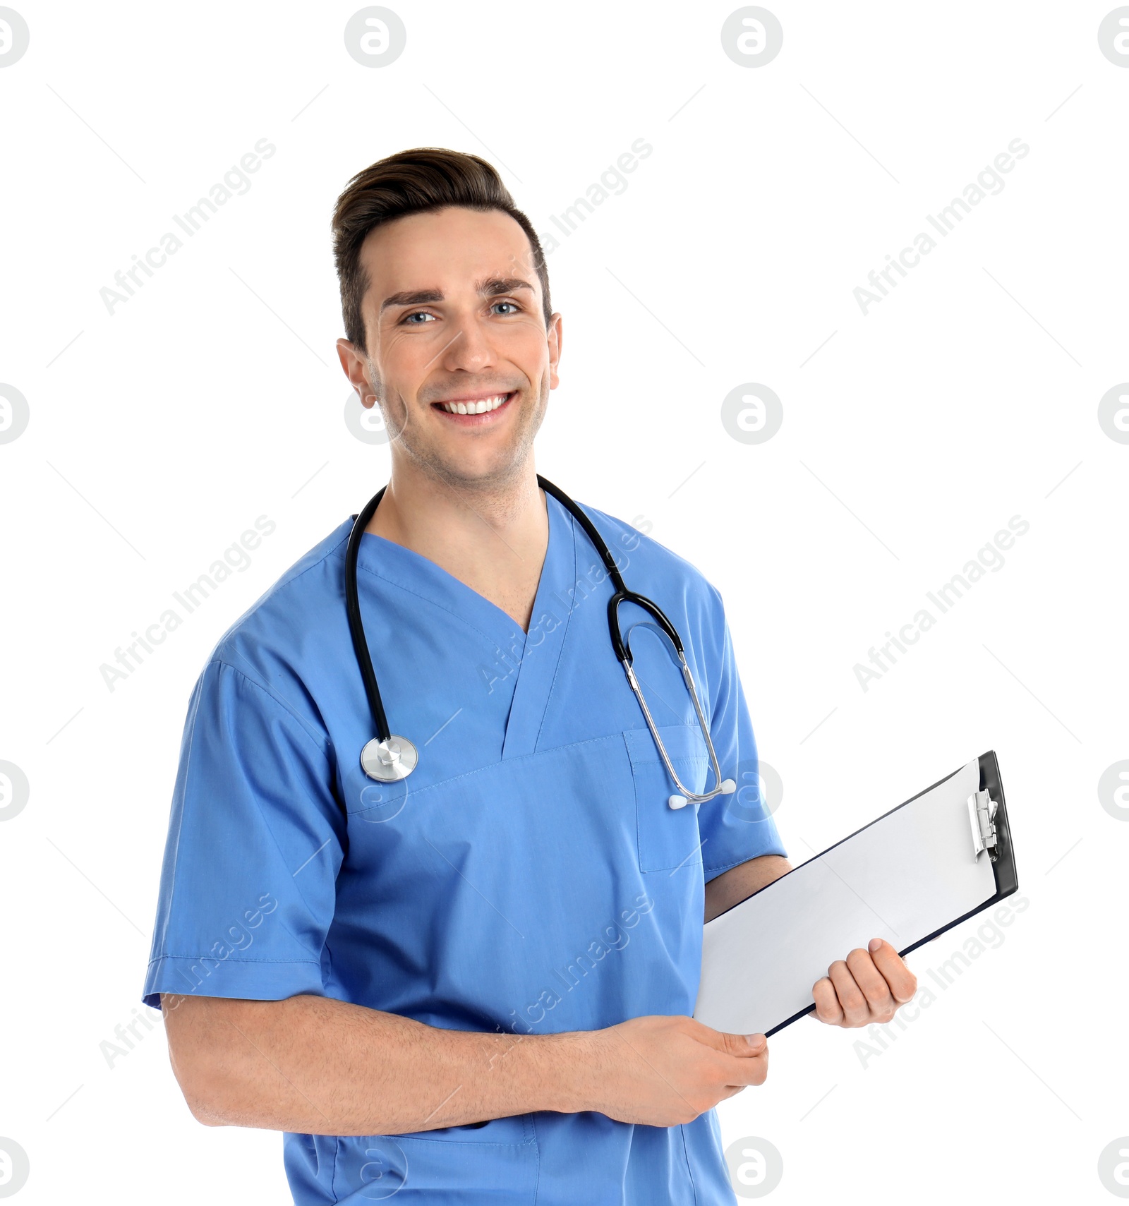
[[988, 750], [707, 921], [694, 1017], [773, 1035], [848, 950], [882, 937], [905, 956], [1018, 888]]

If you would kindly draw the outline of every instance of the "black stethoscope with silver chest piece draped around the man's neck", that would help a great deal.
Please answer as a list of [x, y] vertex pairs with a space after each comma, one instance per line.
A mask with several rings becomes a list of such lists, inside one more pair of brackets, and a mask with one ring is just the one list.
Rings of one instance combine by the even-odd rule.
[[[727, 796], [736, 791], [737, 784], [732, 779], [721, 778], [721, 768], [718, 766], [718, 755], [714, 751], [713, 740], [709, 737], [709, 726], [706, 724], [706, 716], [702, 714], [702, 706], [698, 703], [697, 691], [694, 686], [694, 675], [690, 673], [690, 667], [686, 665], [686, 654], [683, 649], [682, 638], [678, 636], [678, 630], [666, 617], [662, 608], [660, 608], [657, 603], [653, 603], [643, 595], [637, 595], [634, 591], [627, 590], [624, 585], [622, 575], [615, 564], [615, 558], [612, 556], [612, 551], [608, 549], [607, 544], [604, 544], [603, 537], [601, 537], [592, 521], [584, 514], [584, 511], [580, 510], [568, 494], [566, 494], [563, 490], [554, 486], [551, 481], [546, 481], [540, 474], [537, 475], [537, 482], [546, 494], [552, 494], [552, 497], [568, 510], [573, 519], [575, 519], [580, 527], [584, 528], [589, 540], [592, 541], [592, 546], [603, 560], [604, 568], [608, 570], [608, 576], [615, 586], [615, 593], [610, 599], [608, 599], [608, 630], [612, 633], [612, 648], [615, 650], [615, 656], [624, 666], [624, 671], [627, 674], [627, 681], [631, 684], [631, 690], [634, 691], [636, 698], [639, 701], [639, 707], [643, 709], [643, 716], [647, 720], [647, 727], [650, 728], [651, 736], [655, 738], [655, 745], [659, 748], [662, 762], [678, 788], [679, 795], [673, 795], [667, 801], [671, 808], [683, 808], [685, 804], [691, 803], [701, 804], [707, 800], [713, 800], [716, 795]], [[380, 783], [396, 783], [399, 779], [406, 779], [408, 775], [411, 774], [411, 772], [419, 766], [420, 751], [410, 740], [408, 740], [406, 737], [393, 734], [392, 730], [388, 727], [388, 718], [385, 715], [384, 704], [380, 701], [380, 687], [376, 685], [376, 674], [373, 671], [373, 660], [369, 656], [368, 640], [364, 637], [364, 625], [361, 622], [361, 603], [357, 598], [357, 554], [361, 550], [361, 537], [364, 534], [364, 529], [368, 527], [369, 520], [372, 520], [373, 514], [380, 505], [380, 499], [384, 498], [385, 490], [387, 490], [387, 486], [381, 486], [381, 488], [378, 490], [376, 493], [368, 500], [364, 509], [353, 520], [352, 531], [349, 534], [349, 546], [345, 550], [345, 610], [349, 614], [349, 632], [352, 636], [353, 651], [357, 655], [357, 665], [361, 668], [361, 678], [364, 680], [364, 693], [368, 696], [369, 710], [373, 714], [373, 725], [378, 734], [372, 740], [367, 742], [364, 749], [361, 750], [361, 766], [370, 779], [376, 779]], [[662, 744], [662, 738], [659, 736], [659, 730], [655, 727], [650, 708], [647, 707], [647, 701], [643, 698], [643, 692], [639, 690], [638, 679], [631, 667], [631, 634], [628, 633], [628, 639], [625, 642], [622, 633], [620, 632], [620, 603], [634, 603], [637, 607], [643, 608], [644, 611], [648, 611], [655, 619], [659, 628], [666, 634], [674, 649], [674, 655], [679, 667], [682, 668], [683, 681], [686, 684], [686, 690], [690, 692], [690, 698], [694, 702], [694, 710], [697, 714], [702, 736], [706, 738], [706, 748], [709, 751], [709, 765], [713, 768], [714, 774], [714, 788], [710, 791], [690, 791], [690, 789], [683, 784], [682, 779], [678, 778], [678, 772], [674, 769], [666, 747]], [[647, 625], [647, 627], [654, 626]]]

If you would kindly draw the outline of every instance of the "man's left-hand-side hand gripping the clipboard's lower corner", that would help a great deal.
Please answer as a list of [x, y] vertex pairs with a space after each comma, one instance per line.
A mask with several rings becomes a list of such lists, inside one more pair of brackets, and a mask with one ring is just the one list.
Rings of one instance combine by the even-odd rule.
[[592, 1076], [581, 1108], [622, 1123], [690, 1123], [768, 1075], [764, 1035], [723, 1034], [692, 1018], [631, 1018], [574, 1037]]

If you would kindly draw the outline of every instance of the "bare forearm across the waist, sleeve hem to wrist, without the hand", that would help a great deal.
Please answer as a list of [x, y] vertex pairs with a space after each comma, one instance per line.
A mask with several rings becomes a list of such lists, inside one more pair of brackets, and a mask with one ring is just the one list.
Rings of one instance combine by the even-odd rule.
[[174, 1071], [209, 1125], [398, 1135], [591, 1107], [583, 1032], [439, 1030], [317, 996], [164, 1001]]

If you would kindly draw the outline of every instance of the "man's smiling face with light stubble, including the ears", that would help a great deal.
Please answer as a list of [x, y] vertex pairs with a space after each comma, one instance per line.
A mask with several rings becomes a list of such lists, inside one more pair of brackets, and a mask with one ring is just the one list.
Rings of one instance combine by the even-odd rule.
[[376, 396], [393, 457], [464, 485], [519, 472], [561, 347], [525, 232], [499, 210], [452, 206], [378, 227], [361, 260], [368, 355], [338, 347], [362, 402]]

